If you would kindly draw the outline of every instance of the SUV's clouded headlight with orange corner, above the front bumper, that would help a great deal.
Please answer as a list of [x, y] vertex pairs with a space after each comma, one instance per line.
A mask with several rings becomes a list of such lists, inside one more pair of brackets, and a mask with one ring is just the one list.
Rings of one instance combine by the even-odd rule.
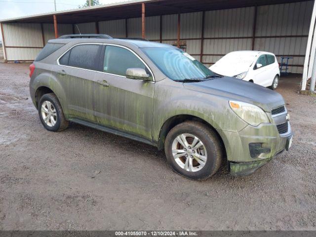
[[239, 118], [253, 126], [270, 122], [267, 114], [258, 106], [232, 100], [229, 101], [229, 106]]

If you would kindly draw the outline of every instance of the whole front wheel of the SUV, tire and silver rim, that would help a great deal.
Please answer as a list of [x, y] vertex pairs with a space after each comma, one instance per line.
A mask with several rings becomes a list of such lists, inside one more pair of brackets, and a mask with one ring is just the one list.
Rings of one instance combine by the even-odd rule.
[[218, 135], [196, 121], [183, 122], [172, 128], [166, 137], [164, 150], [177, 173], [196, 180], [215, 174], [223, 158]]

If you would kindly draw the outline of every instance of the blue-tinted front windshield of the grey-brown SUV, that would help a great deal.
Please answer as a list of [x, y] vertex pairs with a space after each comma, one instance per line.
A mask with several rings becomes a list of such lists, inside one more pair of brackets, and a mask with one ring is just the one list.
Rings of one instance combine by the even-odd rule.
[[216, 75], [194, 57], [177, 48], [145, 47], [142, 51], [172, 80], [204, 79]]

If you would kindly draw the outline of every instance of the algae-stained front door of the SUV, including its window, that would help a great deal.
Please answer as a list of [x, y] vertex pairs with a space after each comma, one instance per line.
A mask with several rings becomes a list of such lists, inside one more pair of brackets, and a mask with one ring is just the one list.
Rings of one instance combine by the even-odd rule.
[[128, 68], [151, 74], [148, 67], [133, 51], [114, 45], [106, 45], [103, 62], [94, 93], [97, 123], [152, 140], [155, 83], [125, 77]]

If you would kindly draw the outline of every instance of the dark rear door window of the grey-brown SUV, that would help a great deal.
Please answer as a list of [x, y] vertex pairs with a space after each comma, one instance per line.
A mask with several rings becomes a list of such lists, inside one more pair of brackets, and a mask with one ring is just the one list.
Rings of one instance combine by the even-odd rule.
[[102, 45], [97, 44], [81, 44], [73, 47], [69, 55], [68, 66], [98, 71], [101, 49]]

